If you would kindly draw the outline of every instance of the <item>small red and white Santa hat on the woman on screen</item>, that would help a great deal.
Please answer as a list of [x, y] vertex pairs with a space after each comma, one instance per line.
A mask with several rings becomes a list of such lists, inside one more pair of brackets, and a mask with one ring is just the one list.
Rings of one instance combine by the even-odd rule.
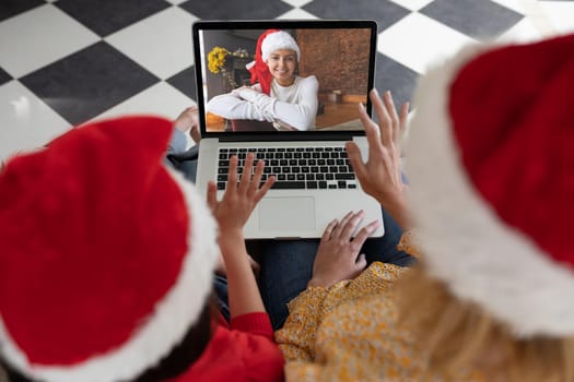
[[269, 55], [278, 49], [294, 50], [297, 56], [297, 61], [301, 58], [297, 43], [289, 33], [280, 29], [267, 29], [257, 39], [255, 61], [246, 65], [251, 73], [251, 84], [258, 82], [265, 94], [269, 94], [271, 91], [271, 80], [273, 80], [267, 67], [267, 60], [269, 59]]

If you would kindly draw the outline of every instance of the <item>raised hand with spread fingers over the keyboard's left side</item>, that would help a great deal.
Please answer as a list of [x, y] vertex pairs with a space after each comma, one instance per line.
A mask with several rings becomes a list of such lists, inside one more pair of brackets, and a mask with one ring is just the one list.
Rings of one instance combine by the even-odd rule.
[[[265, 163], [259, 160], [254, 169], [255, 156], [248, 153], [239, 181], [237, 181], [237, 156], [230, 159], [227, 187], [221, 201], [216, 200], [216, 186], [213, 181], [208, 184], [208, 204], [213, 216], [219, 223], [220, 236], [241, 234], [243, 227], [255, 206], [265, 196], [274, 182], [274, 177], [269, 177], [261, 184]], [[253, 175], [251, 175], [253, 174]]]

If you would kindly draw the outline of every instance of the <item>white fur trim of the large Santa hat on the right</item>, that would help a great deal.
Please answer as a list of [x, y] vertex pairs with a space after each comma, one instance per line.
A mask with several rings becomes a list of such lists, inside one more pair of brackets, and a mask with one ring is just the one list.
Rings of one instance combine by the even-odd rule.
[[572, 335], [574, 274], [499, 218], [467, 177], [453, 135], [449, 86], [488, 48], [467, 47], [420, 80], [406, 142], [418, 240], [432, 276], [515, 335]]

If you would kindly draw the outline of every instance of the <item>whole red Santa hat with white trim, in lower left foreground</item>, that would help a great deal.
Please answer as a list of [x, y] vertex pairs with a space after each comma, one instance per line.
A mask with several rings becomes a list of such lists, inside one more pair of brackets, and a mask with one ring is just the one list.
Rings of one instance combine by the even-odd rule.
[[75, 128], [0, 172], [0, 354], [42, 381], [130, 380], [202, 312], [216, 226], [163, 165], [172, 123]]

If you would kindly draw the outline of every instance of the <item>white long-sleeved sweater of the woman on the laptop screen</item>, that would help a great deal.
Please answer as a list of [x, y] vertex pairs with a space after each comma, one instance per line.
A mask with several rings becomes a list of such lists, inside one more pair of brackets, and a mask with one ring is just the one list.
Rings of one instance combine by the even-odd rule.
[[319, 83], [315, 75], [295, 76], [291, 86], [271, 82], [270, 95], [261, 93], [259, 84], [244, 86], [210, 99], [208, 111], [226, 119], [255, 119], [283, 122], [297, 130], [315, 128]]

